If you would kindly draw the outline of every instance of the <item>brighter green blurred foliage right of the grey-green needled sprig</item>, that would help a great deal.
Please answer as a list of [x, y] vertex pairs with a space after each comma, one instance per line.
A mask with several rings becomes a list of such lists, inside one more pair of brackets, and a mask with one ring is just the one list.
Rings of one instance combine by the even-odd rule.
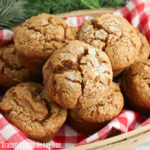
[[58, 14], [80, 9], [119, 8], [126, 1], [128, 0], [28, 0], [25, 10], [31, 16], [41, 12]]

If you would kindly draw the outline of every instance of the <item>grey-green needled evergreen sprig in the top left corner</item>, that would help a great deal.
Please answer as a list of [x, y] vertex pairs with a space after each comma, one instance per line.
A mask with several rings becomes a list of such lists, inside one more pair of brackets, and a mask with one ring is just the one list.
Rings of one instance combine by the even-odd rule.
[[25, 0], [0, 0], [0, 29], [11, 28], [26, 19]]

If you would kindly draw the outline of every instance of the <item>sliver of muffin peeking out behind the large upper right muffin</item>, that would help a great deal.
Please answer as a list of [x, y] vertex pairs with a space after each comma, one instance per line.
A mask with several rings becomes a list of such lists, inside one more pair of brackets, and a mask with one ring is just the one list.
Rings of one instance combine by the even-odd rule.
[[150, 44], [149, 44], [147, 38], [142, 33], [140, 33], [138, 30], [137, 30], [137, 34], [138, 34], [138, 36], [140, 37], [140, 40], [141, 40], [140, 51], [139, 51], [139, 54], [136, 58], [136, 61], [138, 62], [138, 61], [147, 60], [149, 58]]

